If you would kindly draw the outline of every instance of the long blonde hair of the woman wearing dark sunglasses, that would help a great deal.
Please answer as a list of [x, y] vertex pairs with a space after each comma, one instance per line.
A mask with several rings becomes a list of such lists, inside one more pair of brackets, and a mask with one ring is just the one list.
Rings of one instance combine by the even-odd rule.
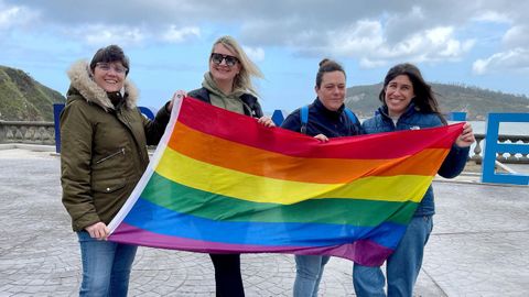
[[231, 36], [222, 36], [219, 37], [212, 47], [212, 53], [215, 50], [215, 45], [222, 44], [234, 52], [235, 56], [239, 59], [240, 63], [240, 72], [238, 75], [235, 76], [234, 79], [234, 90], [242, 90], [242, 91], [250, 91], [253, 95], [258, 95], [253, 84], [251, 82], [251, 77], [263, 78], [261, 70], [259, 67], [251, 62], [248, 55], [245, 53], [242, 47], [239, 43]]

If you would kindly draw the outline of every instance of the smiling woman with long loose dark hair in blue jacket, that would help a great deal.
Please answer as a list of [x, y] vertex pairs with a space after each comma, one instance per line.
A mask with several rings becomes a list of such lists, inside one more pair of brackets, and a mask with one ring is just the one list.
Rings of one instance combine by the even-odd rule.
[[[424, 81], [414, 65], [399, 64], [389, 69], [379, 99], [382, 106], [377, 114], [363, 123], [367, 134], [446, 124], [431, 86]], [[465, 167], [469, 146], [474, 141], [472, 127], [466, 123], [438, 174], [445, 178], [457, 176]], [[430, 185], [397, 250], [386, 261], [387, 296], [412, 296], [422, 265], [424, 245], [432, 231], [434, 212], [433, 190]], [[353, 283], [357, 296], [386, 296], [385, 277], [380, 267], [355, 264]]]

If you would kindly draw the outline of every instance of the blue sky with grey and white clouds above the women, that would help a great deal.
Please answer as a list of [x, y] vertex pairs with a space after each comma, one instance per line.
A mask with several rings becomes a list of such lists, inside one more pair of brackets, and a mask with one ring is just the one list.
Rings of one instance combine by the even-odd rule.
[[119, 44], [140, 105], [158, 108], [201, 86], [212, 43], [229, 34], [263, 72], [268, 111], [311, 102], [323, 57], [344, 65], [349, 87], [411, 62], [429, 81], [529, 96], [529, 1], [422, 2], [0, 0], [0, 65], [65, 94], [73, 62]]

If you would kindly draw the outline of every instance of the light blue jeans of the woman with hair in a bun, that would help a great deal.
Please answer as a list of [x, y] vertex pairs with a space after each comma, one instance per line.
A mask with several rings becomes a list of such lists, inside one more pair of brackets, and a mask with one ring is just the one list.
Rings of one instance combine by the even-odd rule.
[[323, 268], [331, 256], [295, 255], [294, 297], [316, 297]]

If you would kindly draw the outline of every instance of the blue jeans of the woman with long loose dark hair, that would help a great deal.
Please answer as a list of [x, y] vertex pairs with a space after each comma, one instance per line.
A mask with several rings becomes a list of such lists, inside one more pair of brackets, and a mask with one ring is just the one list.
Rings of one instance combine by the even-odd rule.
[[[432, 216], [413, 217], [397, 250], [386, 261], [389, 297], [413, 295], [413, 286], [421, 271], [424, 245], [432, 232]], [[353, 268], [353, 285], [358, 297], [386, 296], [380, 267], [359, 264]]]

